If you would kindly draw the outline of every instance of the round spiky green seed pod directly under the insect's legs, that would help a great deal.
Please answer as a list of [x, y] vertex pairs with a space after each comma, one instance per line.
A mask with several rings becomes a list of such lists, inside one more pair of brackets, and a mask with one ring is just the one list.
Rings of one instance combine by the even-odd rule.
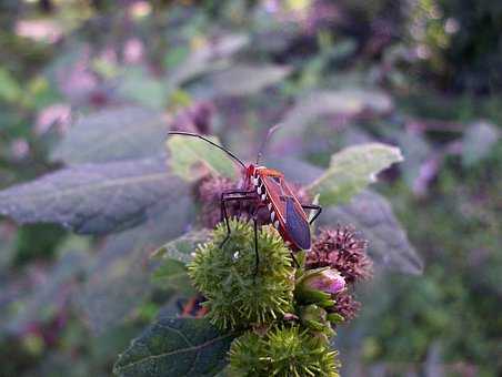
[[199, 247], [189, 274], [208, 298], [208, 316], [222, 329], [270, 324], [292, 310], [294, 268], [290, 251], [279, 233], [263, 226], [258, 234], [259, 265], [254, 274], [254, 231], [252, 223], [231, 220], [219, 224], [212, 240]]

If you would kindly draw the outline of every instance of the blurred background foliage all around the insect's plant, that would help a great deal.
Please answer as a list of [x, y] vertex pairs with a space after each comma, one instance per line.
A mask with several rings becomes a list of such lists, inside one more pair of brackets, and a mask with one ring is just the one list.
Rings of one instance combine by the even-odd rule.
[[[0, 26], [0, 188], [99, 162], [79, 143], [93, 145], [86, 126], [100, 122], [117, 124], [116, 146], [132, 119], [218, 133], [247, 157], [275, 122], [292, 135], [308, 124], [302, 142], [279, 135], [269, 160], [315, 165], [363, 141], [399, 145], [406, 160], [378, 190], [424, 273], [379, 271], [362, 289], [337, 339], [344, 375], [502, 373], [502, 3], [4, 0]], [[117, 245], [144, 237], [128, 232], [0, 221], [0, 375], [107, 376], [159, 310], [175, 310], [175, 287], [147, 295], [123, 265], [137, 252], [121, 262]], [[144, 294], [141, 305], [110, 282]]]

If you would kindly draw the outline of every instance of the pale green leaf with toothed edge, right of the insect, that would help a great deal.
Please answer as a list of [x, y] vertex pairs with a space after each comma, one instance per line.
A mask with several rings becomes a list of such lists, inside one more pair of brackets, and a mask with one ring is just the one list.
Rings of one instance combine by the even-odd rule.
[[322, 205], [345, 202], [375, 181], [376, 174], [402, 161], [398, 147], [368, 143], [349, 146], [331, 156], [330, 167], [308, 186], [311, 195], [319, 194]]

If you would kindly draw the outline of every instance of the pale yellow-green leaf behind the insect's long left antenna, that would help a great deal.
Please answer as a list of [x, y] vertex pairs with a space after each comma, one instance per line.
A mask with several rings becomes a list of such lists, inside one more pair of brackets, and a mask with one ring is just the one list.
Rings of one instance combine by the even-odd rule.
[[[217, 137], [209, 137], [219, 144]], [[204, 166], [213, 175], [235, 179], [235, 163], [223, 151], [203, 140], [174, 135], [168, 140], [171, 154], [170, 166], [172, 172], [187, 181], [197, 181], [201, 172], [194, 167]]]

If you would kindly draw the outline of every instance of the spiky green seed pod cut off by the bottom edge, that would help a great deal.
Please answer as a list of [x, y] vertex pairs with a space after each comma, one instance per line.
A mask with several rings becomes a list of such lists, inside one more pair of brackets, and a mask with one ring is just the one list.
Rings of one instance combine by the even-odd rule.
[[339, 376], [337, 351], [300, 326], [273, 327], [263, 337], [249, 332], [229, 355], [231, 376]]

